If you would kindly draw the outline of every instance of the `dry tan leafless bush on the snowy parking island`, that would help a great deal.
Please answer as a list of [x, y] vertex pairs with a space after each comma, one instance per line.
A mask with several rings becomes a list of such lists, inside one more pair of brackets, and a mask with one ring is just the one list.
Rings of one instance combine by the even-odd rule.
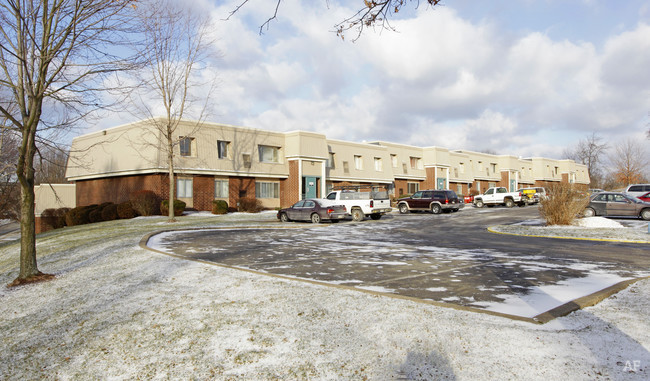
[[539, 214], [547, 225], [571, 225], [589, 204], [589, 197], [572, 184], [559, 183], [548, 189], [547, 197], [540, 201]]

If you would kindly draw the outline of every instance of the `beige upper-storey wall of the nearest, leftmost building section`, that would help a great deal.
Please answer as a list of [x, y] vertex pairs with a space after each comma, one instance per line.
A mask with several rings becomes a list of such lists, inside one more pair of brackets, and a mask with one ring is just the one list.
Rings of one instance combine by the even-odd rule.
[[[181, 175], [237, 175], [286, 178], [285, 136], [282, 133], [221, 124], [183, 122], [174, 137], [191, 137], [192, 153], [180, 156], [176, 146], [175, 167]], [[106, 175], [152, 173], [166, 170], [166, 151], [161, 134], [150, 124], [133, 123], [73, 139], [66, 177], [78, 180]], [[228, 157], [218, 157], [217, 142], [230, 142]], [[278, 148], [277, 162], [260, 162], [259, 146]], [[250, 157], [246, 166], [245, 155]]]

